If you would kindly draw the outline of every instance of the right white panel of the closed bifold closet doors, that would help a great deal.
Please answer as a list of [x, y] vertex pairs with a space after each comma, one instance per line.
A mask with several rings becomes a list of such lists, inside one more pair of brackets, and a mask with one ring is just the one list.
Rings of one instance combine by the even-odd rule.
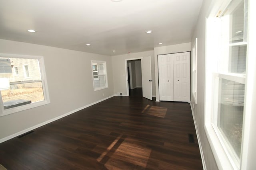
[[190, 52], [173, 54], [174, 101], [190, 102]]

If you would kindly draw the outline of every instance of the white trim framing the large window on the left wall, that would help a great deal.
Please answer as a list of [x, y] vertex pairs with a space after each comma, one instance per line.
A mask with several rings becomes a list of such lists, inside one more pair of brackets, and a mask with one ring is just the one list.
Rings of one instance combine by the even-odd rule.
[[4, 109], [2, 96], [0, 93], [0, 116], [9, 115], [12, 113], [16, 113], [19, 111], [31, 109], [38, 106], [43, 106], [46, 104], [50, 104], [50, 97], [48, 92], [48, 86], [47, 86], [47, 78], [46, 78], [46, 71], [44, 66], [44, 57], [43, 56], [32, 56], [32, 55], [16, 55], [16, 54], [3, 54], [0, 53], [0, 57], [10, 57], [10, 58], [22, 58], [22, 59], [38, 59], [39, 67], [40, 67], [40, 73], [41, 73], [41, 80], [42, 82], [42, 88], [43, 88], [43, 94], [44, 94], [44, 101], [38, 101], [31, 104], [23, 105], [23, 106], [17, 106], [10, 109]]

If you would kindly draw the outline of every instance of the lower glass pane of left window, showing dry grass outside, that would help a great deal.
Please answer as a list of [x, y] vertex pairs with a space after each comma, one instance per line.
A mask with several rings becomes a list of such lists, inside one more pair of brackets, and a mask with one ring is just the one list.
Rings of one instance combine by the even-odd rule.
[[42, 82], [11, 84], [8, 90], [1, 90], [4, 109], [44, 100]]

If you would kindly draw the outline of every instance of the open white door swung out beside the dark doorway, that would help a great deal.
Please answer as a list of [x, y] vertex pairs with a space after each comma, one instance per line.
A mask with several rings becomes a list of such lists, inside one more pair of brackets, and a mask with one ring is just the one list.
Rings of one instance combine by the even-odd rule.
[[144, 57], [141, 59], [142, 72], [142, 96], [152, 100], [152, 76], [151, 76], [151, 59]]

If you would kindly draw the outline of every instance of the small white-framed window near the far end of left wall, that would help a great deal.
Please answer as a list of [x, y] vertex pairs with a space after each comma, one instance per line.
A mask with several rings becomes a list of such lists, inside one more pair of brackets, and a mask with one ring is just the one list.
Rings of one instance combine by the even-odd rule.
[[106, 61], [92, 61], [94, 91], [108, 88]]

